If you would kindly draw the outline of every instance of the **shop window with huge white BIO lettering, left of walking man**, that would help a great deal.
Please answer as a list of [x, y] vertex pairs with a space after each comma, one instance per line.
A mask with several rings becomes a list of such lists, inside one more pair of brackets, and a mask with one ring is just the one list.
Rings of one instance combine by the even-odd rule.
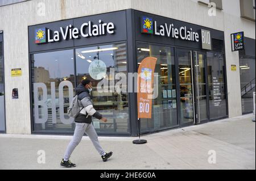
[[74, 95], [73, 50], [31, 55], [34, 131], [69, 132], [74, 127], [67, 115]]

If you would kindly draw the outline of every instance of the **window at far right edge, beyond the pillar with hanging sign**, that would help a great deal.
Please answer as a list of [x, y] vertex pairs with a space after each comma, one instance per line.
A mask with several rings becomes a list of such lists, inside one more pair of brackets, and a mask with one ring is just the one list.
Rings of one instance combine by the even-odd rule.
[[242, 113], [253, 112], [253, 92], [255, 92], [255, 57], [240, 56], [240, 82]]

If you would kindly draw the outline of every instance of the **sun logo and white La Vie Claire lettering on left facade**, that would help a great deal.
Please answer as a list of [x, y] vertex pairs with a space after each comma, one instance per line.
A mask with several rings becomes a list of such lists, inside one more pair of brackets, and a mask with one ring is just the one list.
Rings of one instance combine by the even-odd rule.
[[80, 39], [81, 37], [102, 36], [105, 34], [114, 33], [114, 23], [103, 23], [98, 20], [98, 24], [93, 24], [91, 21], [83, 23], [81, 27], [74, 28], [72, 24], [60, 30], [50, 30], [49, 28], [35, 29], [35, 44], [53, 43], [60, 40]]

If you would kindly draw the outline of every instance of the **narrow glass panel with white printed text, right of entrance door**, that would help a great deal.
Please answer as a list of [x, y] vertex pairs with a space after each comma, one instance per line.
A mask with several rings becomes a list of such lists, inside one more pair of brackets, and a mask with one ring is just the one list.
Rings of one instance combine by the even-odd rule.
[[227, 116], [224, 55], [207, 52], [210, 119]]

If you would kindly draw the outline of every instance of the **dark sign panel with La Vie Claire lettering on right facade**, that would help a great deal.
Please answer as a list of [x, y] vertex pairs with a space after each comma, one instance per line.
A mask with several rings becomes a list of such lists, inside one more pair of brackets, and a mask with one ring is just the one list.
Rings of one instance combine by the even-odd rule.
[[224, 32], [146, 12], [135, 11], [136, 40], [202, 49], [201, 29], [210, 37], [224, 40]]

